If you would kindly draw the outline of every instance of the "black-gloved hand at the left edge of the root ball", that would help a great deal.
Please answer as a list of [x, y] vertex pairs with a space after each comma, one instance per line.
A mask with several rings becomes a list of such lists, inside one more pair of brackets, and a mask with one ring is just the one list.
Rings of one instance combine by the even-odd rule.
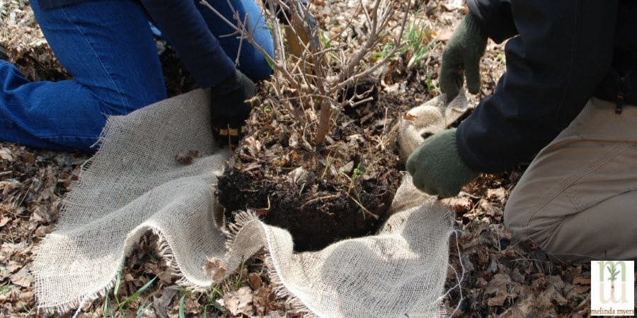
[[243, 136], [242, 126], [251, 110], [246, 100], [256, 95], [256, 92], [255, 83], [239, 70], [210, 88], [212, 131], [222, 145], [239, 143]]

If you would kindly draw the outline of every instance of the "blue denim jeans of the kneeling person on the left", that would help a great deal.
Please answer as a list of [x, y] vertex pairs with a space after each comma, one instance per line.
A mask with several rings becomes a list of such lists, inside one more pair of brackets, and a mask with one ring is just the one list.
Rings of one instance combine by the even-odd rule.
[[[201, 4], [208, 27], [234, 60], [239, 50], [231, 28]], [[231, 19], [226, 1], [211, 1]], [[265, 25], [254, 0], [231, 0], [240, 16]], [[40, 11], [30, 0], [42, 33], [67, 81], [30, 82], [11, 63], [0, 61], [0, 139], [54, 151], [96, 151], [109, 115], [127, 114], [166, 98], [166, 86], [147, 13], [138, 1], [91, 1]], [[266, 28], [256, 40], [272, 54]], [[257, 81], [272, 69], [263, 55], [243, 43], [238, 68]], [[214, 71], [214, 70], [211, 70]]]

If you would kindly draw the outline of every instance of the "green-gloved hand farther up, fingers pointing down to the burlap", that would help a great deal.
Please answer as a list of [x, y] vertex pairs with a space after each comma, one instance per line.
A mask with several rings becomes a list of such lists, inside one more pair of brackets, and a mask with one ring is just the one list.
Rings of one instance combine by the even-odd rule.
[[458, 95], [465, 76], [469, 92], [477, 94], [480, 91], [480, 59], [484, 55], [487, 39], [479, 21], [471, 13], [466, 13], [442, 49], [438, 83], [440, 90], [447, 94], [447, 101]]

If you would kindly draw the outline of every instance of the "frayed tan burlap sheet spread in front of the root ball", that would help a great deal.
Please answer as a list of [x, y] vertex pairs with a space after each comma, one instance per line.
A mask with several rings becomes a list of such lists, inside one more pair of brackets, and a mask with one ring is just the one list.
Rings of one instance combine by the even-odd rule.
[[[202, 269], [208, 259], [219, 259], [231, 273], [265, 247], [272, 281], [308, 315], [440, 314], [452, 231], [447, 207], [415, 189], [405, 174], [394, 214], [377, 235], [319, 252], [294, 253], [287, 231], [249, 211], [224, 225], [214, 189], [229, 152], [212, 142], [209, 103], [207, 90], [195, 90], [108, 120], [100, 151], [67, 195], [57, 229], [34, 261], [41, 309], [67, 311], [107, 293], [134, 243], [154, 231], [163, 239], [161, 254], [190, 288], [217, 283]], [[201, 157], [184, 165], [175, 158], [185, 151]]]

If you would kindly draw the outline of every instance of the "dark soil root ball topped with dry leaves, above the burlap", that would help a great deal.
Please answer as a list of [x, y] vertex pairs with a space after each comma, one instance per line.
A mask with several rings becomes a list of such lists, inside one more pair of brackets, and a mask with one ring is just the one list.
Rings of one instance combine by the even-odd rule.
[[287, 229], [297, 252], [377, 232], [404, 170], [396, 124], [417, 105], [414, 96], [427, 94], [422, 85], [399, 93], [380, 89], [385, 84], [371, 79], [344, 91], [345, 97], [371, 92], [373, 100], [334, 114], [325, 146], [294, 141], [292, 123], [283, 126], [279, 121], [285, 119], [275, 119], [268, 107], [253, 110], [250, 137], [219, 178], [226, 217], [255, 211], [265, 223]]

